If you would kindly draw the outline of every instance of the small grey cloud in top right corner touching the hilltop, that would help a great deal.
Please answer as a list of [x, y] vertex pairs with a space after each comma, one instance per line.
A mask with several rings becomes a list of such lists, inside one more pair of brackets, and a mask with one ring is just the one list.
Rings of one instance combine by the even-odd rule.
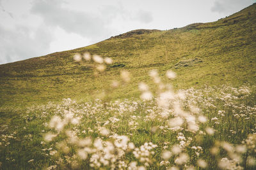
[[251, 0], [216, 0], [211, 8], [212, 11], [218, 13], [231, 14], [242, 10], [246, 6], [252, 4]]

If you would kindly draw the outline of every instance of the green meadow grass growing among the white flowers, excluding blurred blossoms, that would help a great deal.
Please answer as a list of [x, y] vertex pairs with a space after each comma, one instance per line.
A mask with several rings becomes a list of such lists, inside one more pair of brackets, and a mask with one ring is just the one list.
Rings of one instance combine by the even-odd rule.
[[[248, 159], [248, 156], [256, 159], [254, 150], [256, 136], [253, 137], [255, 141], [252, 141], [252, 143], [246, 142], [246, 138], [256, 131], [255, 90], [255, 87], [236, 89], [227, 86], [185, 90], [186, 99], [182, 101], [182, 108], [189, 113], [189, 107], [196, 104], [201, 110], [199, 115], [205, 115], [208, 119], [205, 124], [199, 124], [199, 131], [197, 132], [189, 131], [187, 124], [183, 124], [182, 129], [176, 131], [168, 129], [168, 119], [173, 118], [173, 112], [171, 111], [166, 118], [163, 118], [161, 109], [159, 110], [154, 100], [145, 102], [128, 99], [117, 103], [104, 103], [102, 101], [77, 103], [65, 99], [61, 103], [48, 103], [25, 110], [16, 110], [15, 113], [19, 116], [12, 121], [12, 125], [1, 127], [1, 134], [4, 135], [1, 136], [0, 146], [1, 167], [3, 169], [42, 169], [58, 165], [59, 169], [64, 167], [72, 169], [74, 168], [72, 163], [64, 161], [62, 164], [58, 164], [59, 158], [63, 160], [71, 159], [71, 162], [76, 162], [77, 159], [73, 156], [81, 148], [77, 142], [70, 143], [71, 139], [76, 138], [74, 136], [68, 138], [65, 131], [76, 132], [79, 139], [90, 136], [93, 141], [97, 138], [101, 138], [103, 141], [115, 141], [110, 136], [106, 137], [100, 134], [99, 129], [105, 127], [110, 130], [111, 135], [128, 136], [129, 141], [138, 148], [144, 145], [145, 142], [156, 144], [155, 153], [149, 157], [151, 162], [149, 169], [165, 169], [168, 166], [177, 166], [175, 164], [177, 155], [168, 159], [169, 165], [161, 166], [160, 162], [163, 160], [161, 154], [164, 150], [172, 150], [173, 145], [180, 145], [178, 136], [182, 135], [186, 138], [183, 140], [187, 143], [182, 152], [189, 154], [187, 166], [195, 166], [198, 169], [197, 160], [204, 159], [208, 164], [208, 169], [217, 169], [218, 162], [222, 158], [227, 157], [232, 160], [232, 155], [236, 153], [241, 158], [241, 162], [237, 166], [244, 167], [244, 169], [253, 169], [253, 166], [248, 165], [246, 159]], [[54, 128], [49, 128], [52, 116], [58, 115], [64, 120], [69, 111], [74, 113], [74, 117], [81, 117], [79, 124], [67, 124], [60, 132], [54, 130]], [[198, 117], [196, 112], [192, 115]], [[45, 123], [47, 123], [46, 126]], [[152, 127], [156, 128], [156, 131], [152, 131]], [[214, 135], [207, 134], [205, 127], [214, 128]], [[58, 134], [58, 137], [49, 143], [45, 143], [44, 136], [48, 132]], [[180, 132], [182, 135], [179, 134]], [[191, 141], [189, 141], [189, 138], [191, 138]], [[223, 141], [230, 143], [229, 145], [232, 147], [246, 146], [247, 151], [242, 153], [235, 150], [226, 152], [224, 148], [221, 148], [221, 142]], [[66, 143], [70, 152], [64, 153], [61, 148], [58, 148], [58, 143], [61, 142]], [[200, 155], [196, 155], [193, 146], [202, 148], [198, 152]], [[92, 145], [88, 147], [94, 148]], [[218, 147], [220, 153], [211, 154], [212, 147]], [[54, 150], [57, 151], [56, 155], [49, 155]], [[90, 167], [90, 157], [92, 157], [92, 154], [88, 155], [88, 159], [79, 162], [79, 168], [92, 168]], [[28, 162], [31, 159], [33, 159], [33, 162]], [[127, 165], [133, 161], [143, 165], [143, 162], [140, 162], [140, 159], [134, 157], [129, 151], [125, 151], [121, 160], [124, 160]], [[81, 160], [78, 159], [78, 161]], [[184, 165], [180, 165], [180, 167], [182, 168]], [[102, 165], [102, 168], [108, 169], [108, 166]]]

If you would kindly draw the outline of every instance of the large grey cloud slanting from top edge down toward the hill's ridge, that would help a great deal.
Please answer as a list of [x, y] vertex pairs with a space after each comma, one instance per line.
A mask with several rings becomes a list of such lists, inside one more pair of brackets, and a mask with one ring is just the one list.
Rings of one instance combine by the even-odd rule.
[[68, 33], [76, 33], [91, 39], [100, 39], [106, 36], [109, 30], [103, 20], [96, 13], [75, 11], [63, 8], [63, 1], [46, 0], [33, 2], [31, 13], [40, 15], [46, 25], [61, 27]]

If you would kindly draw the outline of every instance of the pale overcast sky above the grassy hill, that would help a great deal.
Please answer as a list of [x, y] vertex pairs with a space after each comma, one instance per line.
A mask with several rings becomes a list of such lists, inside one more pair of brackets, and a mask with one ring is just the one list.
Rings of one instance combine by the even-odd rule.
[[0, 0], [0, 64], [92, 45], [134, 29], [213, 22], [255, 0]]

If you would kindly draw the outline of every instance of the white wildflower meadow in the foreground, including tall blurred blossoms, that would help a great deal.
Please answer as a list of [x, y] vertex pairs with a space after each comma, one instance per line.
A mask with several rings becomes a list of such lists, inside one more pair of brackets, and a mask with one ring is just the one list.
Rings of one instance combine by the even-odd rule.
[[[113, 60], [77, 53], [93, 76]], [[109, 88], [125, 89], [122, 70]], [[148, 74], [140, 97], [61, 102], [12, 110], [15, 122], [0, 130], [1, 169], [255, 169], [256, 88], [244, 84], [174, 89], [172, 70]]]

